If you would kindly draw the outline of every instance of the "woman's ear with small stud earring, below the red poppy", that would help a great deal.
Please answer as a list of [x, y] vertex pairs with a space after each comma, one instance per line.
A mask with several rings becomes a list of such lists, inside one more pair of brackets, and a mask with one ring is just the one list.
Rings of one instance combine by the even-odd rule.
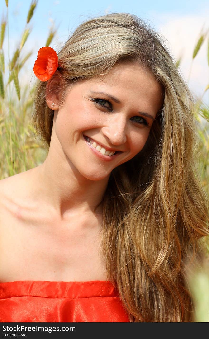
[[[45, 99], [49, 108], [53, 111], [59, 108], [60, 92], [63, 84], [63, 79], [59, 73], [55, 73], [51, 79], [48, 80], [45, 89]], [[52, 105], [54, 103], [54, 105]]]

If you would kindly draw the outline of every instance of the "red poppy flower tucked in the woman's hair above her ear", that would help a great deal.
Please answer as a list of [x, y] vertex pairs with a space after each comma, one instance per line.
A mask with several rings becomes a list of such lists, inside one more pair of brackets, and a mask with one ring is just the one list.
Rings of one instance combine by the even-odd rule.
[[52, 47], [42, 47], [38, 51], [33, 71], [41, 81], [49, 80], [58, 68], [58, 56]]

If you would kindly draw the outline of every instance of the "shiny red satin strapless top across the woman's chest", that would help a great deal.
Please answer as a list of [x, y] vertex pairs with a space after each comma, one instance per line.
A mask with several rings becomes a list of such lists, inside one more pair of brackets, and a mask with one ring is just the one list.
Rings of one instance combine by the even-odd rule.
[[0, 322], [129, 322], [110, 281], [0, 283]]

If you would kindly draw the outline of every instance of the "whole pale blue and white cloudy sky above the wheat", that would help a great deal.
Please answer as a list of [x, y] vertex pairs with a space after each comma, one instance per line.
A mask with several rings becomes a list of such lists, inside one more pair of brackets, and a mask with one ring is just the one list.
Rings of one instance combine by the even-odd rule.
[[[12, 55], [26, 27], [26, 17], [31, 0], [8, 0], [10, 54]], [[0, 12], [6, 16], [5, 1], [1, 0]], [[38, 49], [45, 45], [49, 29], [52, 25], [58, 27], [57, 34], [50, 45], [59, 50], [62, 44], [72, 34], [74, 29], [84, 20], [92, 17], [114, 13], [127, 12], [139, 16], [165, 39], [166, 45], [174, 59], [183, 55], [180, 71], [185, 80], [191, 66], [191, 56], [194, 45], [201, 30], [209, 28], [209, 2], [205, 0], [149, 0], [149, 1], [67, 1], [38, 0], [34, 16], [29, 23], [32, 32], [23, 47], [26, 52], [33, 49], [34, 55], [27, 61], [28, 79], [33, 77], [33, 65]], [[27, 26], [27, 28], [28, 28]], [[6, 41], [7, 40], [7, 41]], [[8, 51], [8, 39], [5, 37], [4, 50]], [[194, 59], [189, 79], [190, 89], [198, 96], [203, 95], [209, 81], [207, 64], [207, 42]], [[23, 76], [24, 79], [24, 76]], [[209, 91], [208, 91], [209, 92]], [[204, 95], [208, 103], [209, 94]]]

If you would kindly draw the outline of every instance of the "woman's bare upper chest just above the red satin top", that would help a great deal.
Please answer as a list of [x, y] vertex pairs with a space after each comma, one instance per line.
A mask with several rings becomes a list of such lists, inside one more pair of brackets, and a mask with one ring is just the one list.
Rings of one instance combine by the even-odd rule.
[[0, 227], [0, 281], [106, 280], [97, 218], [74, 217], [57, 224], [53, 218], [4, 209]]

